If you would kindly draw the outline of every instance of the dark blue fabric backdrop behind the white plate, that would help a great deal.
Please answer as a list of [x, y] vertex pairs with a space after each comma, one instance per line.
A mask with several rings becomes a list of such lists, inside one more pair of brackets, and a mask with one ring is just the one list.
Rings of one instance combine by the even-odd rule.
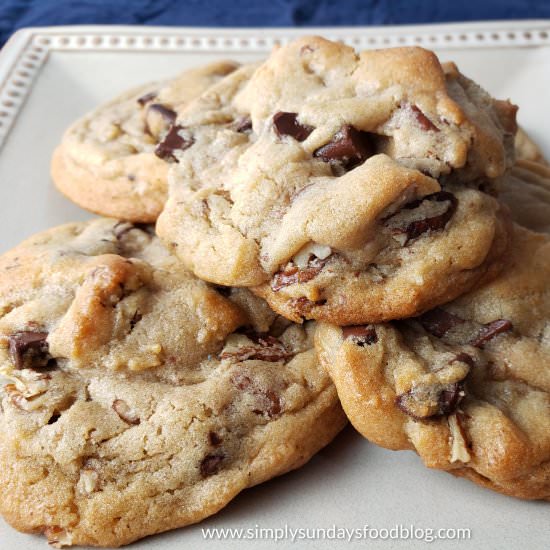
[[390, 25], [550, 18], [550, 0], [0, 0], [0, 44], [21, 27]]

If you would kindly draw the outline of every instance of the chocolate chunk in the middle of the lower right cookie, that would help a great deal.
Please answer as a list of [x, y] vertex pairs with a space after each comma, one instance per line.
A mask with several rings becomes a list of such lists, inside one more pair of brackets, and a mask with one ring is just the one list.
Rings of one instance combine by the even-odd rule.
[[462, 382], [446, 386], [419, 386], [398, 395], [396, 406], [415, 420], [427, 420], [454, 413], [464, 398]]

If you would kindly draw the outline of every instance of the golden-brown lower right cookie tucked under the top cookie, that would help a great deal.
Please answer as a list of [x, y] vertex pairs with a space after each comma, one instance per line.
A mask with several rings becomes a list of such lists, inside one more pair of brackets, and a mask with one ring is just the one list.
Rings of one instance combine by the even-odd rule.
[[550, 237], [515, 228], [493, 282], [415, 319], [316, 344], [350, 421], [501, 493], [550, 499]]

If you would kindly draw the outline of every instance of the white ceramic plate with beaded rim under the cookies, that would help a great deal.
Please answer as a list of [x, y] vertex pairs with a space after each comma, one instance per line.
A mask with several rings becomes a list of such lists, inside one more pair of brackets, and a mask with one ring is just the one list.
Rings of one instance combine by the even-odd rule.
[[[89, 214], [59, 195], [49, 161], [65, 127], [99, 102], [141, 82], [218, 58], [247, 61], [278, 42], [322, 34], [358, 48], [417, 44], [454, 60], [493, 95], [520, 105], [519, 121], [550, 154], [550, 22], [422, 27], [187, 29], [58, 27], [19, 31], [0, 53], [0, 252], [23, 238]], [[550, 155], [549, 155], [550, 156]], [[0, 491], [3, 490], [0, 487]], [[250, 489], [201, 524], [132, 546], [181, 548], [422, 548], [420, 530], [469, 529], [434, 548], [549, 548], [550, 505], [522, 502], [424, 468], [411, 452], [370, 445], [348, 428], [304, 468]], [[285, 532], [286, 526], [286, 532]], [[367, 529], [364, 529], [368, 526]], [[414, 540], [360, 540], [416, 530]], [[256, 540], [205, 540], [203, 529], [249, 529]], [[351, 543], [333, 540], [356, 529]], [[263, 531], [261, 531], [263, 529]], [[273, 532], [270, 532], [270, 529]], [[292, 531], [308, 529], [291, 539]], [[323, 529], [324, 535], [323, 535]], [[314, 532], [317, 530], [317, 533]], [[426, 532], [425, 532], [426, 533]], [[276, 542], [273, 538], [287, 537]], [[303, 540], [303, 536], [316, 540]], [[270, 540], [271, 539], [271, 540]], [[0, 548], [43, 549], [0, 520]]]

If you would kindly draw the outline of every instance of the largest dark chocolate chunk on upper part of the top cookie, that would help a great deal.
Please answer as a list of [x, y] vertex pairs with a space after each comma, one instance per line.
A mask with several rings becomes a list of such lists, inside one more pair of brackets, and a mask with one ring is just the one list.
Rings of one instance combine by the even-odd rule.
[[365, 162], [373, 154], [368, 132], [357, 130], [347, 124], [327, 144], [313, 152], [313, 156], [325, 162], [339, 162], [346, 168], [353, 168]]

